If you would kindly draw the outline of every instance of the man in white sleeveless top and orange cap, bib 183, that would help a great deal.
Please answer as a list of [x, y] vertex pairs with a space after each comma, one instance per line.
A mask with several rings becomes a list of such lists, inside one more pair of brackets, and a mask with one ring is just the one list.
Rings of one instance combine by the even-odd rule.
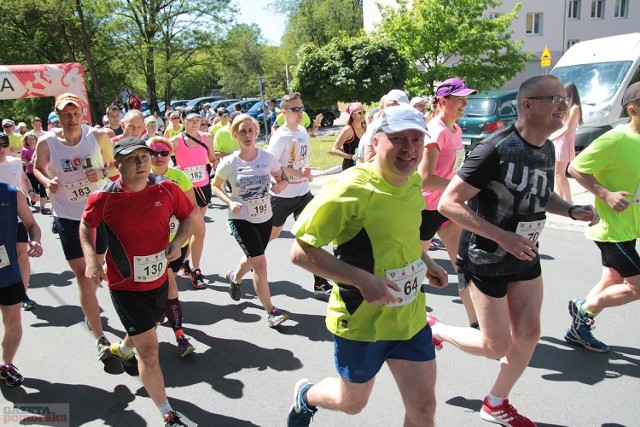
[[[38, 141], [34, 174], [51, 196], [53, 223], [78, 282], [80, 306], [96, 338], [98, 359], [104, 360], [110, 357], [110, 343], [103, 334], [96, 297], [100, 283], [84, 275], [86, 264], [78, 227], [89, 194], [107, 183], [109, 169], [113, 169], [113, 145], [104, 131], [82, 124], [82, 101], [76, 95], [63, 93], [56, 99], [55, 107], [62, 127], [52, 129]], [[105, 168], [106, 165], [109, 167]], [[98, 232], [96, 247], [100, 256], [107, 250], [102, 230]]]

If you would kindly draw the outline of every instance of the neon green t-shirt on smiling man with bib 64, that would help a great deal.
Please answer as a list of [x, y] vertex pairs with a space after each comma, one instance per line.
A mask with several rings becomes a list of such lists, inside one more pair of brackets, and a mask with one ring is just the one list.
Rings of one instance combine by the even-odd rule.
[[[402, 187], [385, 181], [371, 163], [348, 169], [325, 183], [292, 232], [320, 248], [333, 243], [347, 264], [379, 277], [412, 265], [422, 256], [421, 212], [425, 207], [416, 173]], [[425, 326], [425, 295], [402, 306], [372, 305], [351, 285], [334, 286], [326, 325], [355, 341], [407, 340]]]

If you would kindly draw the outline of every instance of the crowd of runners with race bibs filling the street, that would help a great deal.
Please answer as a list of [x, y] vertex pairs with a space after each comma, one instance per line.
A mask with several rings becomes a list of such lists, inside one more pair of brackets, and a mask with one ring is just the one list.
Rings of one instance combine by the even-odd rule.
[[[156, 326], [169, 321], [180, 356], [196, 351], [183, 331], [176, 275], [189, 277], [195, 289], [206, 287], [202, 252], [212, 237], [205, 216], [215, 196], [228, 206], [225, 232], [244, 254], [226, 273], [232, 301], [241, 299], [250, 273], [267, 326], [288, 320], [271, 301], [265, 253], [291, 216], [291, 260], [313, 274], [316, 295], [329, 295], [326, 326], [338, 375], [295, 385], [289, 426], [309, 425], [319, 408], [357, 414], [384, 364], [403, 398], [404, 425], [433, 425], [435, 352], [444, 343], [499, 360], [482, 419], [534, 426], [509, 395], [540, 336], [537, 242], [546, 212], [588, 222], [587, 237], [602, 253], [600, 281], [586, 298], [569, 302], [568, 343], [607, 351], [591, 332], [595, 316], [640, 298], [640, 83], [623, 100], [630, 122], [569, 164], [569, 173], [596, 195], [595, 207], [572, 205], [554, 193], [549, 136], [563, 127], [572, 96], [557, 78], [527, 79], [518, 93], [518, 120], [465, 156], [456, 121], [475, 92], [459, 78], [442, 82], [430, 100], [392, 90], [370, 120], [363, 104], [349, 104], [348, 123], [331, 149], [343, 159], [343, 171], [315, 197], [309, 132], [301, 125], [305, 107], [297, 93], [282, 97], [282, 124], [264, 149], [256, 146], [259, 124], [241, 112], [172, 111], [162, 133], [161, 119], [145, 119], [136, 109], [121, 117], [113, 105], [104, 127], [91, 127], [71, 93], [56, 98], [48, 131], [37, 117], [23, 134], [3, 120], [1, 379], [7, 386], [24, 380], [14, 365], [21, 311], [37, 305], [27, 296], [29, 258], [43, 254], [34, 213], [51, 216], [97, 358], [115, 357], [125, 372], [140, 376], [164, 425], [186, 425], [167, 399]], [[209, 125], [217, 126], [213, 133]], [[438, 288], [448, 282], [428, 255], [436, 234], [458, 273], [468, 317], [463, 327], [425, 313], [423, 282]], [[102, 328], [96, 290], [103, 280], [126, 332], [117, 342]]]

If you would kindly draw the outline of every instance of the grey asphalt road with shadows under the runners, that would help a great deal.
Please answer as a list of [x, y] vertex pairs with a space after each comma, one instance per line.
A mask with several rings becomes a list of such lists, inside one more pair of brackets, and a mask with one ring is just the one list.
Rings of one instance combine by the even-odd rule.
[[[322, 179], [316, 180], [316, 187]], [[26, 380], [22, 387], [0, 385], [0, 411], [43, 403], [69, 405], [71, 426], [159, 426], [160, 415], [138, 378], [117, 363], [96, 360], [93, 337], [83, 322], [73, 275], [50, 233], [50, 217], [37, 216], [44, 231], [45, 256], [32, 262], [29, 295], [38, 307], [24, 313], [24, 337], [15, 359]], [[291, 320], [278, 330], [267, 327], [247, 277], [243, 298], [232, 301], [224, 279], [241, 256], [226, 231], [226, 209], [214, 201], [209, 209], [202, 263], [209, 281], [194, 290], [179, 279], [185, 331], [196, 353], [178, 356], [173, 334], [160, 326], [160, 359], [174, 408], [189, 425], [283, 426], [295, 382], [335, 375], [333, 345], [324, 327], [326, 303], [314, 298], [312, 277], [293, 266], [288, 253], [292, 235], [269, 246], [267, 258], [274, 304]], [[285, 230], [291, 228], [289, 222]], [[595, 334], [611, 351], [596, 354], [564, 343], [569, 322], [567, 302], [583, 296], [600, 275], [595, 245], [561, 222], [544, 230], [541, 242], [545, 277], [542, 338], [511, 401], [539, 426], [639, 426], [636, 399], [640, 389], [640, 323], [637, 303], [611, 309], [597, 319]], [[445, 252], [433, 253], [446, 268]], [[430, 291], [428, 310], [451, 324], [464, 325], [455, 276], [443, 291]], [[106, 289], [99, 291], [102, 319], [109, 339], [124, 335]], [[437, 354], [439, 426], [487, 425], [478, 414], [497, 372], [494, 360], [467, 355], [451, 345]], [[63, 406], [64, 408], [64, 406]], [[377, 378], [369, 405], [359, 415], [320, 410], [316, 426], [399, 426], [403, 407], [390, 372]], [[0, 419], [1, 425], [16, 424]]]

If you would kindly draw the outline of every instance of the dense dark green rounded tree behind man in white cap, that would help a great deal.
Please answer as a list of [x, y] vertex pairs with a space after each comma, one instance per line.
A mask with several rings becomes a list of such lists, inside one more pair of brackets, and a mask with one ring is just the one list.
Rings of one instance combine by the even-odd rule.
[[334, 39], [321, 48], [306, 45], [300, 50], [293, 90], [315, 105], [378, 101], [403, 87], [409, 64], [398, 49], [393, 42], [367, 36]]

